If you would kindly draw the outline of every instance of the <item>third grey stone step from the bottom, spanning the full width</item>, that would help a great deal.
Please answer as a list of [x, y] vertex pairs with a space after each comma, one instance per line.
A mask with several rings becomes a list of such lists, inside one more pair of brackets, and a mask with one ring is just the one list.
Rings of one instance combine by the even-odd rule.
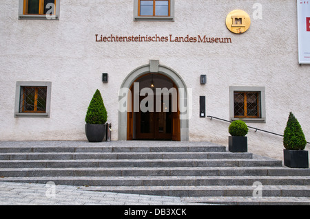
[[[8, 181], [87, 186], [310, 185], [310, 176], [39, 176], [7, 177]], [[186, 189], [186, 188], [185, 188]], [[253, 189], [252, 189], [253, 190]]]

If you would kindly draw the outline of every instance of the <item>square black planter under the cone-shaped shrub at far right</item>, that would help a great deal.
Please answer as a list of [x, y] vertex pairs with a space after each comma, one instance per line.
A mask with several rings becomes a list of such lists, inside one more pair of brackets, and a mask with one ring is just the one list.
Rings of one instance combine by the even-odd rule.
[[283, 150], [285, 166], [289, 168], [309, 168], [307, 150]]

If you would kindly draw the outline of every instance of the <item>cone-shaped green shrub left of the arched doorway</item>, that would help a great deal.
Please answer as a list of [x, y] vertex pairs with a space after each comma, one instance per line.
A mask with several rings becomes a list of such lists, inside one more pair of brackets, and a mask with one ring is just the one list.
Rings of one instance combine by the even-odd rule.
[[85, 122], [86, 124], [105, 124], [107, 122], [107, 111], [98, 89], [90, 101], [90, 106], [88, 106]]

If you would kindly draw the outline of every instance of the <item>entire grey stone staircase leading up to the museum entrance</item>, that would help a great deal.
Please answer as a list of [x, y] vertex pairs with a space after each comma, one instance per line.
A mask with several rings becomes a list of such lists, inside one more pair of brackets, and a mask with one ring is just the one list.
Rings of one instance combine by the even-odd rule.
[[53, 181], [193, 203], [310, 205], [309, 169], [209, 142], [0, 142], [1, 181]]

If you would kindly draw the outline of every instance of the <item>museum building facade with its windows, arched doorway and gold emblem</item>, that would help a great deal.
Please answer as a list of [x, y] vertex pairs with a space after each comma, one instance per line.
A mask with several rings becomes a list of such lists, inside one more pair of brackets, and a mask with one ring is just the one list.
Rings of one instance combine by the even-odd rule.
[[[310, 141], [310, 66], [298, 61], [301, 3], [310, 5], [4, 0], [0, 140], [85, 141], [85, 113], [99, 89], [112, 141], [227, 146], [229, 123], [207, 116], [282, 135], [289, 112]], [[250, 152], [282, 159], [282, 137], [252, 129], [247, 136]]]

